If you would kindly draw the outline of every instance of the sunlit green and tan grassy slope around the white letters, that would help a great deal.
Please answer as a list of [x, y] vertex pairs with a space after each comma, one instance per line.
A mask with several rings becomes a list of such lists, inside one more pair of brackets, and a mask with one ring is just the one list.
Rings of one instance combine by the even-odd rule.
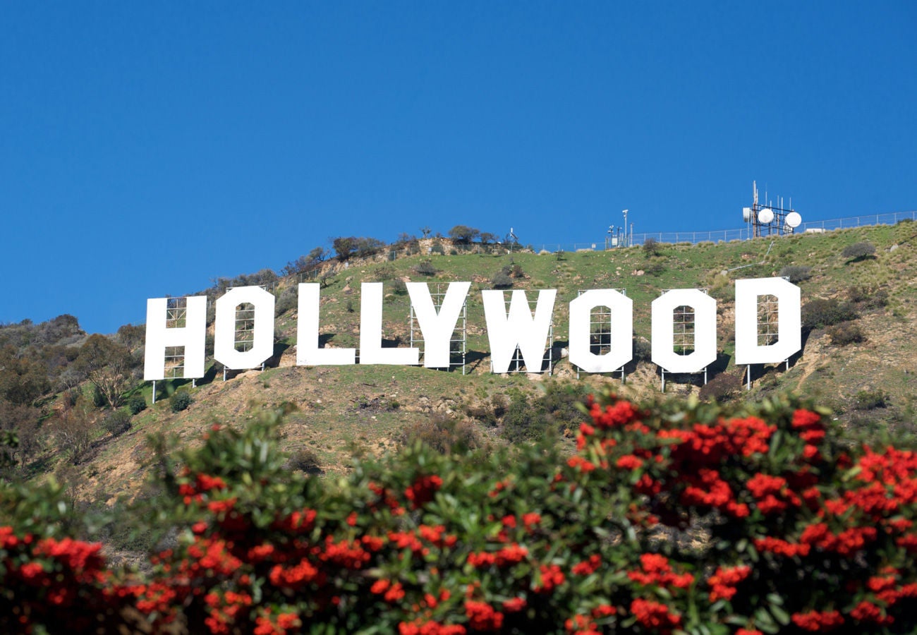
[[[878, 248], [876, 258], [847, 262], [841, 251], [850, 243], [869, 240]], [[296, 367], [292, 346], [282, 354], [280, 365], [263, 373], [240, 373], [230, 381], [221, 376], [193, 389], [194, 403], [188, 410], [171, 413], [167, 400], [142, 412], [127, 434], [100, 438], [89, 462], [68, 468], [66, 477], [77, 484], [80, 496], [109, 503], [116, 496], [137, 491], [145, 465], [151, 458], [147, 434], [169, 431], [182, 443], [193, 443], [215, 419], [243, 421], [249, 417], [252, 401], [276, 405], [293, 402], [299, 411], [286, 427], [290, 451], [311, 448], [331, 471], [342, 469], [354, 446], [360, 451], [377, 451], [392, 446], [400, 429], [429, 418], [431, 413], [456, 413], [463, 407], [491, 395], [534, 391], [537, 384], [569, 381], [574, 376], [569, 362], [558, 363], [555, 377], [500, 376], [489, 372], [484, 332], [481, 289], [491, 288], [490, 279], [504, 265], [518, 264], [525, 278], [515, 288], [558, 289], [554, 315], [554, 340], [568, 339], [568, 303], [578, 290], [625, 288], [634, 299], [634, 331], [637, 339], [650, 333], [650, 302], [660, 290], [679, 287], [707, 287], [719, 302], [718, 350], [725, 372], [734, 372], [734, 329], [732, 323], [735, 278], [776, 275], [786, 264], [812, 267], [812, 278], [802, 282], [803, 303], [816, 296], [845, 297], [852, 284], [868, 284], [889, 292], [889, 306], [865, 314], [860, 323], [868, 340], [843, 348], [831, 345], [823, 331], [813, 331], [805, 340], [801, 357], [790, 371], [777, 368], [756, 370], [750, 395], [756, 398], [773, 390], [795, 390], [817, 396], [838, 412], [839, 425], [877, 429], [892, 422], [907, 429], [913, 421], [917, 362], [917, 224], [894, 227], [856, 228], [822, 235], [803, 235], [771, 240], [754, 240], [697, 246], [664, 245], [661, 253], [647, 257], [640, 248], [618, 251], [513, 255], [436, 255], [429, 258], [439, 273], [421, 276], [414, 267], [426, 257], [410, 256], [394, 262], [352, 263], [340, 270], [322, 290], [322, 333], [333, 335], [336, 347], [359, 347], [359, 283], [395, 275], [413, 281], [436, 283], [471, 280], [468, 299], [469, 350], [472, 362], [468, 374], [445, 373], [423, 368], [392, 366]], [[896, 248], [892, 249], [893, 246]], [[766, 256], [765, 254], [768, 252]], [[753, 264], [764, 261], [764, 264]], [[654, 268], [653, 264], [657, 263]], [[752, 264], [724, 275], [727, 269]], [[653, 271], [657, 274], [638, 274]], [[292, 284], [292, 283], [291, 283]], [[444, 286], [445, 289], [445, 286]], [[282, 289], [280, 290], [282, 292]], [[353, 309], [352, 311], [348, 309]], [[387, 295], [384, 309], [384, 337], [408, 337], [407, 295]], [[277, 320], [277, 338], [295, 342], [295, 310]], [[635, 395], [656, 395], [659, 390], [655, 365], [631, 365], [628, 382], [585, 375], [580, 381], [593, 385], [611, 384], [615, 390]], [[695, 381], [695, 384], [698, 382]], [[881, 389], [890, 395], [890, 407], [878, 411], [856, 410], [856, 393]], [[149, 394], [149, 387], [146, 389]], [[668, 393], [696, 392], [691, 384], [669, 384]], [[870, 428], [871, 427], [871, 428]], [[495, 430], [487, 430], [495, 434]], [[62, 462], [57, 463], [59, 467]], [[54, 461], [45, 462], [51, 469]]]

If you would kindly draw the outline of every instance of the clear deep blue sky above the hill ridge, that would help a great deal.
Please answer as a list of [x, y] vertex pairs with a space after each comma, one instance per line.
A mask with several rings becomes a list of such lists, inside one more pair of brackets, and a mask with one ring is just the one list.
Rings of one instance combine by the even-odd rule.
[[0, 4], [0, 322], [89, 331], [329, 237], [917, 208], [917, 3]]

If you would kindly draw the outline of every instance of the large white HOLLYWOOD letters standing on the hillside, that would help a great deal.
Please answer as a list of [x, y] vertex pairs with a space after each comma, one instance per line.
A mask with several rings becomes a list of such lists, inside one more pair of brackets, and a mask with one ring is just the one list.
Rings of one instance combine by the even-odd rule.
[[[407, 283], [414, 315], [423, 336], [424, 366], [447, 368], [449, 340], [468, 297], [471, 283], [450, 283], [438, 308], [425, 283]], [[296, 364], [309, 366], [356, 363], [357, 350], [319, 347], [319, 284], [299, 284]], [[773, 296], [778, 306], [777, 340], [758, 343], [758, 301]], [[481, 291], [493, 373], [510, 369], [516, 348], [526, 368], [541, 368], [554, 313], [556, 289], [537, 292], [533, 314], [525, 291], [513, 291], [508, 310], [503, 291]], [[167, 325], [169, 298], [147, 300], [144, 379], [165, 378], [166, 347], [184, 348], [184, 377], [204, 376], [207, 298], [185, 299], [185, 325]], [[772, 300], [773, 301], [773, 300]], [[248, 351], [236, 349], [236, 309], [254, 306], [254, 341]], [[693, 352], [674, 350], [673, 311], [691, 306]], [[591, 351], [591, 311], [611, 311], [610, 349]], [[215, 302], [214, 358], [230, 370], [258, 368], [273, 354], [274, 296], [259, 286], [230, 289]], [[697, 373], [716, 361], [716, 300], [700, 289], [673, 289], [652, 302], [652, 361], [668, 373]], [[382, 284], [360, 289], [359, 363], [419, 365], [418, 348], [382, 347]], [[569, 361], [588, 373], [610, 373], [633, 359], [633, 300], [613, 289], [593, 289], [569, 303]], [[550, 344], [548, 343], [548, 346]], [[735, 281], [735, 363], [776, 363], [801, 349], [800, 288], [784, 278]]]

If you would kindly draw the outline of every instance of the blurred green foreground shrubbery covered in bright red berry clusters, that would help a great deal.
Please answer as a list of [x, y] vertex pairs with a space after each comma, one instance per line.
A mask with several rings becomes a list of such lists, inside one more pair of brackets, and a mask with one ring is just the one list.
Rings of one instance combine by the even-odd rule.
[[[318, 479], [280, 415], [163, 463], [176, 528], [149, 574], [62, 535], [7, 486], [0, 627], [214, 633], [906, 633], [917, 625], [917, 454], [848, 452], [775, 397], [588, 403], [578, 451], [422, 445]], [[131, 622], [134, 622], [131, 624]]]

